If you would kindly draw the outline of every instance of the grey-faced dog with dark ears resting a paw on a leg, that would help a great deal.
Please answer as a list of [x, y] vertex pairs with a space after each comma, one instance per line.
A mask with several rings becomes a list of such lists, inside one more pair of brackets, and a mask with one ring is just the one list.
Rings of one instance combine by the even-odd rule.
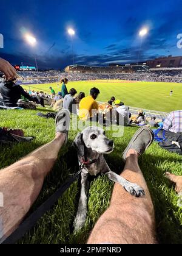
[[120, 185], [133, 196], [144, 196], [143, 188], [131, 183], [111, 171], [104, 159], [104, 154], [110, 154], [114, 149], [113, 140], [106, 137], [105, 131], [99, 127], [87, 127], [79, 132], [73, 141], [78, 151], [78, 162], [81, 171], [81, 195], [78, 211], [74, 221], [75, 231], [81, 229], [87, 218], [88, 176], [96, 176], [99, 172], [106, 174], [113, 182]]

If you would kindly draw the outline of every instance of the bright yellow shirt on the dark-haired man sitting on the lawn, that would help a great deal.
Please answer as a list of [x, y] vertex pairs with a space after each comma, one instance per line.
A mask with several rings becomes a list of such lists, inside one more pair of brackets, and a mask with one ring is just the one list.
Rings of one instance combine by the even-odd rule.
[[98, 103], [92, 98], [92, 96], [87, 96], [79, 103], [79, 118], [86, 120], [92, 117], [96, 110], [98, 110]]

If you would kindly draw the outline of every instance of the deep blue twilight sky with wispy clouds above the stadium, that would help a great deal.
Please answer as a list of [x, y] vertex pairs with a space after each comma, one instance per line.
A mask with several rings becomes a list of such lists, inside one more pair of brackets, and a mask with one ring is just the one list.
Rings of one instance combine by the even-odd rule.
[[[182, 55], [177, 35], [182, 34], [181, 0], [1, 0], [0, 57], [12, 64], [64, 68], [75, 62], [87, 65], [135, 62], [140, 49], [138, 32], [147, 26], [140, 60]], [[24, 32], [34, 35], [32, 47]]]

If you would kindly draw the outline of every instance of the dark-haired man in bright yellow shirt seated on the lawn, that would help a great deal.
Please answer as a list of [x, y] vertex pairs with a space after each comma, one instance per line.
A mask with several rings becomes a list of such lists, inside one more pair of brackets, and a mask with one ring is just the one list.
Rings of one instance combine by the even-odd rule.
[[90, 90], [90, 95], [81, 100], [79, 104], [79, 118], [81, 120], [92, 118], [98, 113], [98, 103], [95, 100], [99, 93], [99, 90], [94, 87]]

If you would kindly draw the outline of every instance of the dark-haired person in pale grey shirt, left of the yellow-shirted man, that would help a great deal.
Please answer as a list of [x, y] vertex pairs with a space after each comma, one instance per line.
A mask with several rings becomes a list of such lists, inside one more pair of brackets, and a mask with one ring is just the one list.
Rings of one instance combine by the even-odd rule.
[[73, 98], [77, 91], [75, 88], [72, 88], [70, 90], [70, 93], [67, 94], [63, 99], [63, 107], [67, 110], [69, 110], [70, 113], [73, 113], [76, 115], [76, 99]]

